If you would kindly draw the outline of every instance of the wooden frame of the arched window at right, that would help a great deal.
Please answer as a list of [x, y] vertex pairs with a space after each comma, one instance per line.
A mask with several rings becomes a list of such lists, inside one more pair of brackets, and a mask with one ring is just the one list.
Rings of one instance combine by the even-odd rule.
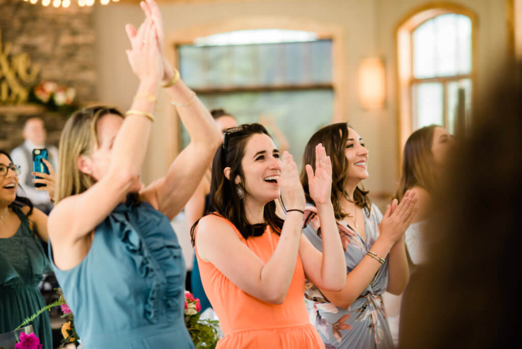
[[[471, 71], [469, 74], [433, 78], [415, 78], [413, 76], [413, 32], [440, 15], [456, 14], [467, 16], [471, 20]], [[444, 122], [447, 122], [447, 84], [452, 81], [469, 78], [471, 80], [471, 100], [476, 96], [477, 85], [477, 15], [468, 7], [455, 3], [432, 3], [410, 11], [396, 27], [396, 74], [397, 74], [397, 163], [401, 168], [402, 149], [413, 132], [413, 96], [414, 84], [423, 82], [443, 83]], [[400, 173], [398, 174], [400, 176]]]

